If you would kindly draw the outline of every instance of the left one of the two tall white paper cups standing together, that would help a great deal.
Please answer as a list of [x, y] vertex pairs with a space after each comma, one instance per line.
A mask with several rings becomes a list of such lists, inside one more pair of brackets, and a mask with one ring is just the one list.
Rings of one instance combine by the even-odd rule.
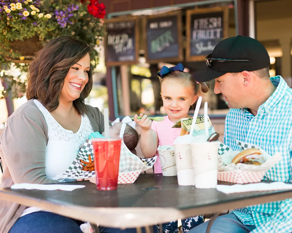
[[191, 144], [174, 144], [178, 185], [194, 185]]

